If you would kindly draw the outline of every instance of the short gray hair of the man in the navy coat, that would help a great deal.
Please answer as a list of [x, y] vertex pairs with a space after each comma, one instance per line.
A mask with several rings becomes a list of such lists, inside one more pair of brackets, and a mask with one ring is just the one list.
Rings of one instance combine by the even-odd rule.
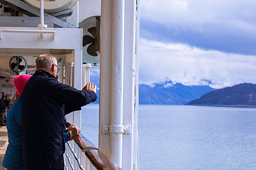
[[52, 65], [55, 63], [56, 58], [52, 54], [41, 54], [36, 59], [36, 69], [39, 68], [47, 68], [50, 69]]

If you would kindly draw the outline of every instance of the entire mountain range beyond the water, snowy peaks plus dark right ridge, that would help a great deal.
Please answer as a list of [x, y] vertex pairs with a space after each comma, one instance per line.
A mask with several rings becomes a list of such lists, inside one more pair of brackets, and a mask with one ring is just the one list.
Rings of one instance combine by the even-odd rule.
[[[97, 85], [99, 103], [99, 73], [91, 69], [90, 81]], [[256, 85], [243, 83], [221, 89], [208, 85], [183, 85], [167, 80], [152, 85], [138, 86], [139, 104], [166, 105], [256, 105]]]

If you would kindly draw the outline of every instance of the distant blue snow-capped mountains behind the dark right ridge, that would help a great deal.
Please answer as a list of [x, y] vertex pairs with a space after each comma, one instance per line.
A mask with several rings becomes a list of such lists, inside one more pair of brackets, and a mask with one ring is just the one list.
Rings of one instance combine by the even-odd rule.
[[[99, 103], [99, 73], [91, 69], [90, 81], [97, 85]], [[183, 85], [170, 80], [153, 85], [141, 84], [138, 86], [139, 104], [175, 104], [183, 105], [198, 99], [207, 92], [215, 90], [209, 85]]]

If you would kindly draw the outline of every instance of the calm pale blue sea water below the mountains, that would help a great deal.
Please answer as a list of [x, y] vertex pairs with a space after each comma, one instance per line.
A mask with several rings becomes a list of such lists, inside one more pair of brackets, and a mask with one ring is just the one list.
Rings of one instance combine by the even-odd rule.
[[[98, 145], [98, 104], [82, 110]], [[140, 170], [256, 170], [256, 108], [140, 105]]]

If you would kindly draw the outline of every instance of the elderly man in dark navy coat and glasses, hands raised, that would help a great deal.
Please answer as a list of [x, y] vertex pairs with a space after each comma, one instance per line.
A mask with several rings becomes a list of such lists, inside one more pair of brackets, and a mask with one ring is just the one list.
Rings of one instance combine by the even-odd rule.
[[64, 115], [96, 101], [96, 85], [89, 83], [80, 91], [59, 83], [51, 54], [40, 55], [36, 69], [21, 99], [24, 164], [27, 170], [63, 170]]

